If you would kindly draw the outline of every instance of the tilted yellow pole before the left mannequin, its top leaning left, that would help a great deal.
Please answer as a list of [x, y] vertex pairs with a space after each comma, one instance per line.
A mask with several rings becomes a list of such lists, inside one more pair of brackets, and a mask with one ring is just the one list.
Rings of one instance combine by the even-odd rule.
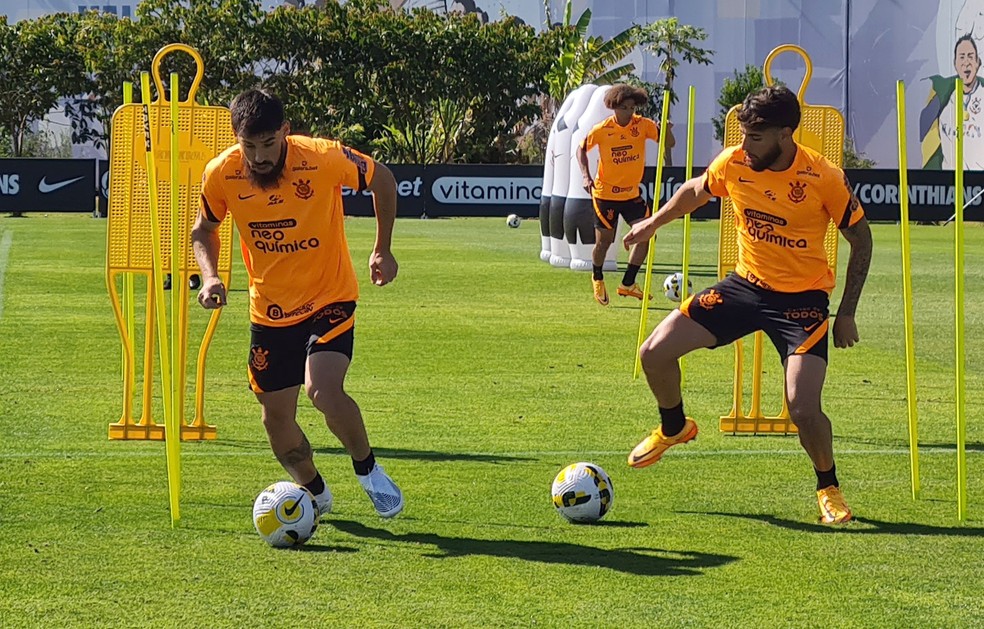
[[[174, 408], [171, 406], [170, 395], [171, 352], [169, 351], [170, 343], [168, 343], [167, 338], [167, 309], [164, 303], [164, 268], [162, 260], [163, 256], [161, 255], [161, 222], [159, 208], [157, 207], [157, 165], [154, 159], [153, 136], [150, 132], [150, 74], [147, 72], [140, 73], [140, 91], [143, 97], [144, 149], [147, 164], [147, 197], [150, 206], [150, 231], [152, 234], [150, 241], [154, 261], [154, 270], [151, 273], [151, 281], [154, 283], [154, 305], [157, 320], [160, 322], [160, 325], [157, 326], [157, 345], [161, 354], [161, 385], [164, 389], [164, 395], [161, 397], [164, 402], [165, 439], [170, 442], [170, 435], [167, 434], [169, 431], [166, 427], [171, 425], [171, 416], [172, 413], [174, 413]], [[150, 374], [146, 374], [145, 377], [149, 378]], [[171, 476], [172, 469], [170, 463], [168, 463], [167, 468], [167, 488], [171, 505], [171, 526], [173, 527], [178, 523], [178, 520], [181, 519], [181, 514], [180, 507], [178, 505], [178, 487], [176, 484], [176, 479]]]

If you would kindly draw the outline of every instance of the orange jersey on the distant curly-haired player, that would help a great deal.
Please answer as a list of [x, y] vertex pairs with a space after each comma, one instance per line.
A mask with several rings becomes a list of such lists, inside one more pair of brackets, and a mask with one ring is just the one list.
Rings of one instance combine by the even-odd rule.
[[646, 167], [646, 139], [659, 140], [659, 126], [639, 114], [624, 127], [609, 116], [584, 138], [584, 150], [597, 146], [598, 174], [592, 196], [606, 201], [628, 201], [639, 196]]

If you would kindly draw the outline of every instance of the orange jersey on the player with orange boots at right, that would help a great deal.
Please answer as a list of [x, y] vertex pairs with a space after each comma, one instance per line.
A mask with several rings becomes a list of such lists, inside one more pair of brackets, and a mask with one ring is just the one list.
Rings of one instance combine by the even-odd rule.
[[844, 229], [864, 216], [843, 170], [797, 144], [789, 168], [756, 172], [741, 147], [732, 146], [703, 179], [708, 192], [734, 202], [738, 275], [781, 293], [833, 290], [823, 245], [827, 226], [833, 221]]

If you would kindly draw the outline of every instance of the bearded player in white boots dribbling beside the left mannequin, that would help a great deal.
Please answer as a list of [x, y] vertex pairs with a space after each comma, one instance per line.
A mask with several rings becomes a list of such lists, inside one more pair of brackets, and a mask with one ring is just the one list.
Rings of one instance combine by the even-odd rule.
[[359, 287], [345, 239], [342, 187], [372, 192], [376, 241], [369, 275], [384, 286], [397, 273], [390, 251], [396, 180], [386, 166], [339, 142], [290, 135], [283, 104], [268, 92], [243, 92], [230, 108], [239, 143], [206, 166], [191, 236], [202, 272], [198, 301], [206, 309], [226, 303], [216, 273], [216, 230], [231, 216], [249, 278], [249, 386], [273, 453], [328, 513], [331, 491], [295, 419], [303, 384], [352, 457], [376, 511], [393, 517], [403, 509], [403, 494], [376, 463], [359, 406], [344, 390]]

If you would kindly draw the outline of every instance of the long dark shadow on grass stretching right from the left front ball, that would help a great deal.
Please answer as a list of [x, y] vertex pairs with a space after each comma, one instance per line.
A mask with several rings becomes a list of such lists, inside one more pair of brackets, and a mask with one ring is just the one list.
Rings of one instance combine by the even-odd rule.
[[397, 543], [431, 544], [437, 546], [440, 552], [424, 553], [424, 556], [436, 559], [485, 555], [542, 563], [609, 568], [642, 576], [674, 577], [697, 576], [703, 574], [708, 568], [718, 568], [738, 559], [730, 555], [672, 551], [659, 548], [605, 550], [565, 542], [488, 540], [470, 537], [445, 537], [436, 533], [396, 534], [348, 520], [332, 520], [331, 524], [339, 531], [356, 537]]

